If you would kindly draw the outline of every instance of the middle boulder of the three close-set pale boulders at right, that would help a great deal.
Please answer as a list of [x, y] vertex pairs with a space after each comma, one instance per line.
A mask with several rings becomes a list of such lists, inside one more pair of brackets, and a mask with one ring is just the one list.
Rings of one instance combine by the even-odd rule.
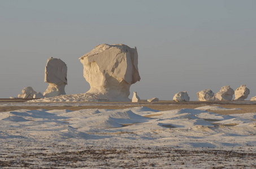
[[230, 101], [232, 100], [234, 90], [230, 86], [223, 86], [220, 91], [215, 94], [216, 100], [220, 101]]

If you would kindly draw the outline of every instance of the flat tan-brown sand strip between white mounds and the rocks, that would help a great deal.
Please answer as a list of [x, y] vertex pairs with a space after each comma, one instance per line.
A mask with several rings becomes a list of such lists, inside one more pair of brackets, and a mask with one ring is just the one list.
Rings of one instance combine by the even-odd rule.
[[[36, 109], [47, 109], [47, 110], [62, 110], [62, 109], [69, 109], [69, 110], [81, 110], [81, 109], [126, 109], [126, 108], [133, 108], [136, 106], [147, 106], [150, 109], [155, 109], [159, 111], [165, 110], [174, 110], [174, 109], [194, 109], [198, 106], [203, 105], [220, 105], [223, 108], [238, 108], [241, 110], [225, 110], [225, 111], [218, 111], [218, 110], [211, 110], [211, 112], [218, 113], [218, 114], [237, 114], [237, 113], [252, 113], [256, 112], [256, 101], [189, 101], [189, 102], [175, 102], [175, 101], [166, 101], [160, 100], [159, 102], [148, 103], [146, 100], [141, 100], [140, 103], [131, 103], [131, 102], [86, 102], [86, 104], [90, 105], [82, 105], [82, 106], [11, 106], [10, 103], [24, 103], [31, 99], [0, 99], [0, 103], [6, 103], [6, 106], [0, 106], [0, 112], [7, 112], [12, 110], [19, 110], [19, 109], [28, 109], [28, 110], [36, 110]], [[22, 104], [21, 104], [22, 105]]]

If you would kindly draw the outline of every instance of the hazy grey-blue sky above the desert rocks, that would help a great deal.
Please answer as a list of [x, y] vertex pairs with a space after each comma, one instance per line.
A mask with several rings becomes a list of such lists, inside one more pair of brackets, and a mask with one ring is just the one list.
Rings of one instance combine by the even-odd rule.
[[[0, 97], [44, 92], [49, 57], [68, 66], [67, 94], [84, 93], [79, 57], [102, 43], [137, 47], [141, 99], [190, 100], [210, 88], [256, 95], [256, 1], [0, 1]], [[130, 95], [131, 98], [131, 95]]]

